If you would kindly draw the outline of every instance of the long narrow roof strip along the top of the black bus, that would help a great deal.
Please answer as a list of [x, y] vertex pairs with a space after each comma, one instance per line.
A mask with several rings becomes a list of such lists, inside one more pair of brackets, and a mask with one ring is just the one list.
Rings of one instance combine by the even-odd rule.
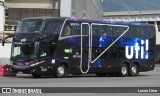
[[134, 25], [134, 26], [153, 26], [152, 24], [144, 24], [144, 23], [137, 23], [137, 22], [117, 22], [117, 21], [110, 21], [110, 20], [90, 20], [90, 19], [80, 19], [75, 17], [30, 17], [24, 18], [23, 20], [27, 19], [59, 19], [59, 20], [69, 20], [69, 21], [81, 21], [81, 22], [89, 22], [89, 23], [107, 23], [107, 24], [118, 24], [118, 25]]

